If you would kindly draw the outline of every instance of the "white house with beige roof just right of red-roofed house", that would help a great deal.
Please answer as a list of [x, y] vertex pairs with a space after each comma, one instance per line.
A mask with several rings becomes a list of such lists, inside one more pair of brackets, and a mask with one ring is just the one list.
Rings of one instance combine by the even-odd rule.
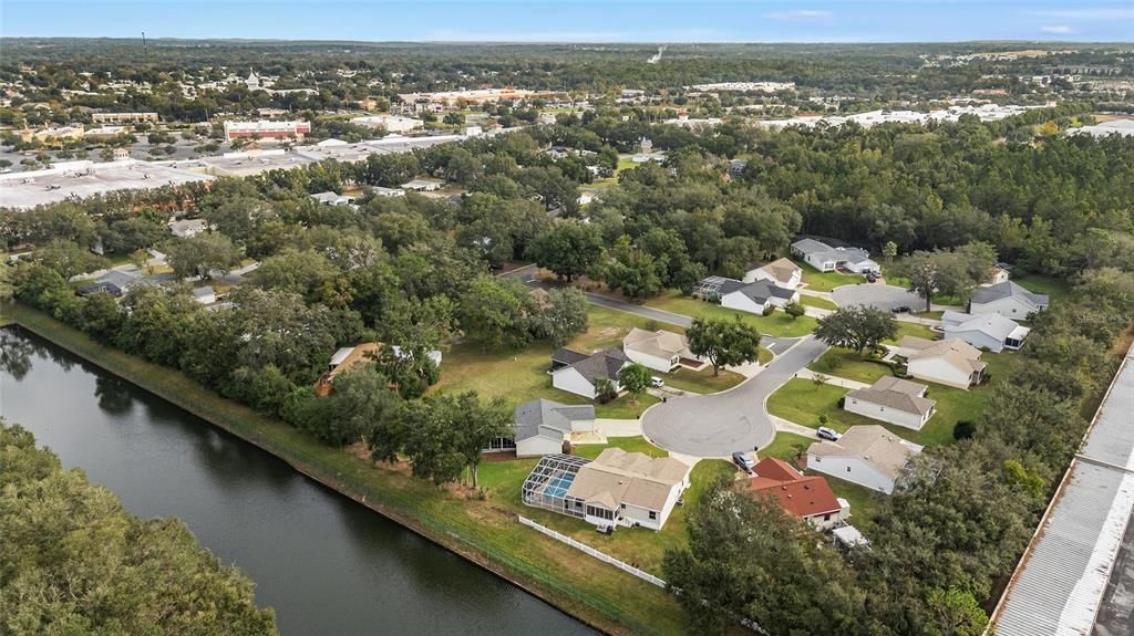
[[881, 424], [850, 427], [838, 441], [812, 444], [807, 469], [889, 495], [903, 469], [921, 450]]

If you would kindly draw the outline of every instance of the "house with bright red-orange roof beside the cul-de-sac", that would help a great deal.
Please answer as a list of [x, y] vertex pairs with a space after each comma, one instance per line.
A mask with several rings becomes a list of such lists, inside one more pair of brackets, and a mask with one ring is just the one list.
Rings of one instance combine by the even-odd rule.
[[764, 457], [753, 471], [756, 474], [745, 480], [750, 492], [775, 497], [787, 514], [819, 530], [846, 523], [850, 516], [850, 504], [835, 497], [831, 487], [821, 476], [804, 476], [776, 457]]

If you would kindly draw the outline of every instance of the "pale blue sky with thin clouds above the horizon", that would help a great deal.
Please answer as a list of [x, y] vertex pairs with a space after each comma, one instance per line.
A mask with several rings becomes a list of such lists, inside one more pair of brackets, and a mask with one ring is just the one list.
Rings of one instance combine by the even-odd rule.
[[0, 0], [0, 35], [446, 42], [1134, 42], [1134, 0]]

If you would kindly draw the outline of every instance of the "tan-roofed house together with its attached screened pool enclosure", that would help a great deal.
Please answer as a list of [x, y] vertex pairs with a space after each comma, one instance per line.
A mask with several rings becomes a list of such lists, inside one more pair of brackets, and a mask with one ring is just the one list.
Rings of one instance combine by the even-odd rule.
[[548, 455], [524, 481], [528, 506], [582, 518], [599, 527], [661, 530], [689, 487], [692, 467], [672, 457], [607, 448], [587, 462]]

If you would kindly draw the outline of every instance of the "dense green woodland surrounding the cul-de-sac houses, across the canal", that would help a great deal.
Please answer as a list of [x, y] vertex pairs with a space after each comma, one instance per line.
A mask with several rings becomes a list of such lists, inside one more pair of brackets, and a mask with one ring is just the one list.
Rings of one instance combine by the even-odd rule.
[[[408, 456], [416, 475], [446, 482], [475, 469], [507, 414], [474, 394], [423, 397], [443, 373], [429, 352], [462, 338], [486, 350], [562, 344], [586, 328], [579, 292], [533, 293], [493, 276], [501, 266], [534, 260], [644, 299], [687, 292], [708, 273], [735, 276], [785, 255], [801, 233], [872, 252], [988, 242], [1019, 273], [1073, 284], [1072, 300], [1035, 320], [1023, 381], [1000, 385], [965, 439], [919, 459], [878, 515], [871, 550], [848, 564], [780, 510], [718, 488], [692, 518], [689, 548], [666, 565], [699, 629], [739, 616], [773, 634], [979, 634], [1134, 316], [1134, 140], [1041, 126], [1081, 108], [997, 123], [775, 132], [727, 122], [700, 134], [599, 110], [353, 165], [2, 212], [6, 244], [34, 248], [3, 270], [18, 300], [100, 342], [329, 445], [365, 440], [375, 461]], [[579, 188], [642, 138], [665, 162], [621, 170], [581, 205]], [[544, 152], [552, 145], [576, 152], [556, 158]], [[728, 179], [736, 157], [747, 166]], [[420, 174], [464, 194], [364, 196], [357, 209], [307, 196]], [[169, 239], [168, 210], [184, 200], [211, 231]], [[100, 239], [119, 255], [159, 246], [178, 278], [222, 280], [246, 258], [262, 265], [215, 311], [187, 286], [79, 298], [68, 278], [105, 264], [87, 249]], [[366, 340], [403, 353], [314, 398], [335, 347]], [[772, 550], [777, 558], [755, 558]]]

